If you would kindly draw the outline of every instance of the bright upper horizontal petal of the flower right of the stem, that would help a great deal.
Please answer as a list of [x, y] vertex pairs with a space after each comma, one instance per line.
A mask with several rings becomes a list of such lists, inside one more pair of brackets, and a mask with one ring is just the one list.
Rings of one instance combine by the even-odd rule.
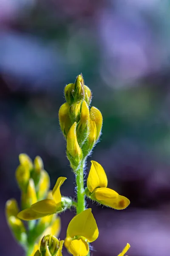
[[119, 194], [113, 189], [98, 188], [94, 190], [91, 196], [97, 200], [107, 200], [117, 198]]

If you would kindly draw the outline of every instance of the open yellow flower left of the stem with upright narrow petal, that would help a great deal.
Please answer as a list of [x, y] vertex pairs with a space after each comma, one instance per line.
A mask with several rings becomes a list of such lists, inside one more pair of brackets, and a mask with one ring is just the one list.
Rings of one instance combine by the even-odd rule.
[[57, 179], [57, 182], [52, 190], [53, 199], [44, 199], [35, 204], [32, 204], [30, 208], [19, 212], [17, 217], [25, 221], [30, 221], [54, 214], [56, 212], [60, 212], [62, 210], [60, 186], [65, 180], [66, 177], [59, 177]]

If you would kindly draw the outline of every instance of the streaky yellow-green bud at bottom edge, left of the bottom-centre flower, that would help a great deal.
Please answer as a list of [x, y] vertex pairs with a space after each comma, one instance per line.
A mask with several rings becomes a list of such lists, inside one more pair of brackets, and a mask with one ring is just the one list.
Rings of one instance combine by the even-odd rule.
[[40, 244], [41, 256], [57, 256], [59, 240], [55, 236], [44, 236]]

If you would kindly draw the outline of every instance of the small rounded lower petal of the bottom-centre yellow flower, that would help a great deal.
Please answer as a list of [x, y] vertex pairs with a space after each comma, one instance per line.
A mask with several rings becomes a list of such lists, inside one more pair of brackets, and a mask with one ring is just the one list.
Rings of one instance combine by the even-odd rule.
[[75, 239], [71, 241], [68, 250], [74, 256], [86, 256], [88, 255], [89, 247], [88, 243], [83, 239]]

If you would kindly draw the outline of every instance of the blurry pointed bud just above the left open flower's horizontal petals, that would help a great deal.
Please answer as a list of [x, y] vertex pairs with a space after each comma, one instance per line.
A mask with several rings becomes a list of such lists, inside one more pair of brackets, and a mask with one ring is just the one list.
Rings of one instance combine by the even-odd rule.
[[37, 202], [37, 195], [33, 179], [29, 180], [27, 191], [26, 193], [22, 193], [21, 201], [23, 209], [29, 208], [31, 204], [35, 204]]

